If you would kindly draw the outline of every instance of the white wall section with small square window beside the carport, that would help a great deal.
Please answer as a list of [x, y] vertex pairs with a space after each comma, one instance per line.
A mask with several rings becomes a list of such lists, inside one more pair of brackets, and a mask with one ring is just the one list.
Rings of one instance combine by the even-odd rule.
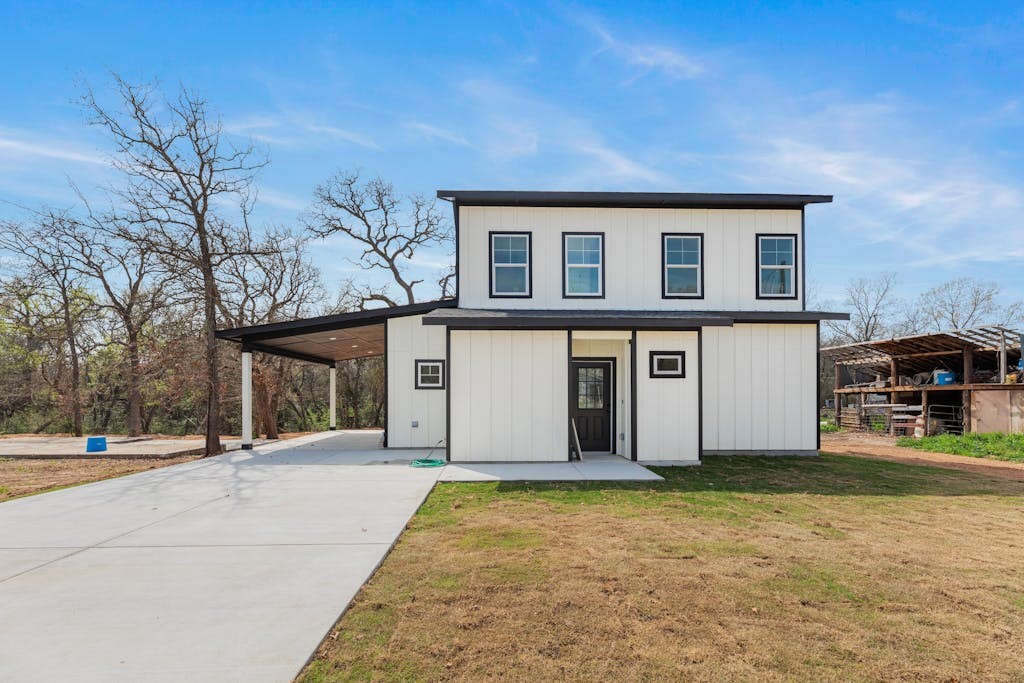
[[389, 447], [433, 447], [444, 438], [445, 391], [416, 388], [416, 360], [444, 359], [444, 328], [423, 325], [422, 315], [387, 322]]

